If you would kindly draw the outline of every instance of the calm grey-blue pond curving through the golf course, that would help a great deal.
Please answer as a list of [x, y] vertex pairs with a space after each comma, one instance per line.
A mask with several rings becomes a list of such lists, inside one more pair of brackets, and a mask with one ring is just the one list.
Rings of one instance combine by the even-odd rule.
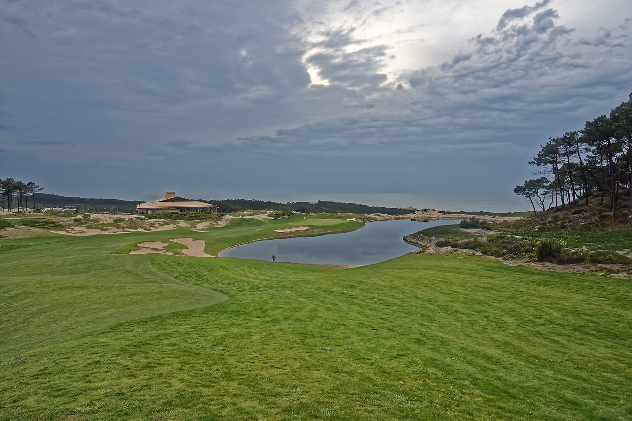
[[222, 257], [272, 260], [277, 262], [311, 263], [318, 265], [367, 265], [393, 259], [419, 250], [403, 240], [404, 236], [432, 226], [458, 224], [461, 221], [375, 221], [348, 233], [315, 237], [279, 238], [255, 241], [219, 253]]

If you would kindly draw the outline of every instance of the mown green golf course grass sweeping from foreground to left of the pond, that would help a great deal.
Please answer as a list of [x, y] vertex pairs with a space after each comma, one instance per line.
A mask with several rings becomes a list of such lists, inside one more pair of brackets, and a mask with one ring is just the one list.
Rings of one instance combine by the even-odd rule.
[[0, 240], [0, 419], [632, 416], [626, 279], [456, 253], [344, 271], [112, 253], [348, 223]]

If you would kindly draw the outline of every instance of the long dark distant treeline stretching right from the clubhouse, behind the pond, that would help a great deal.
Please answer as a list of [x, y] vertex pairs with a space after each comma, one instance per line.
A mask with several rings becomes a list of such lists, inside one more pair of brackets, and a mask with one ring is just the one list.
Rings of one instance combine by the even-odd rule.
[[[200, 199], [203, 200], [203, 199]], [[219, 206], [222, 213], [239, 212], [241, 210], [293, 210], [304, 214], [318, 214], [327, 212], [330, 214], [350, 213], [350, 214], [387, 214], [401, 215], [408, 214], [410, 210], [399, 209], [394, 207], [380, 207], [358, 205], [355, 203], [327, 202], [319, 200], [318, 202], [288, 202], [278, 203], [264, 200], [248, 200], [248, 199], [224, 199], [224, 200], [204, 200]]]

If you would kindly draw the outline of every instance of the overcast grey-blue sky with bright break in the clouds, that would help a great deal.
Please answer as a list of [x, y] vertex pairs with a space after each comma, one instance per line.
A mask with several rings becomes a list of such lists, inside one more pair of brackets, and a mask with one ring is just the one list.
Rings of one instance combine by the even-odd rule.
[[540, 145], [632, 92], [629, 0], [0, 11], [0, 178], [59, 195], [528, 209]]

